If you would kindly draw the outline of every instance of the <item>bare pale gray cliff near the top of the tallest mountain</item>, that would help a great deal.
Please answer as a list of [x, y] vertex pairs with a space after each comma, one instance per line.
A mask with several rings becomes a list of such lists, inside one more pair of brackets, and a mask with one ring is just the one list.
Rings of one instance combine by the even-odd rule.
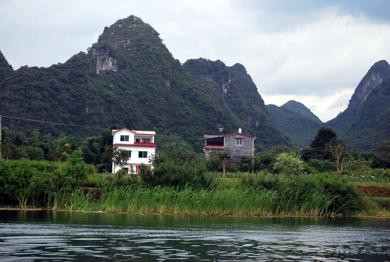
[[117, 59], [110, 56], [110, 49], [91, 48], [89, 50], [89, 57], [98, 74], [118, 71]]

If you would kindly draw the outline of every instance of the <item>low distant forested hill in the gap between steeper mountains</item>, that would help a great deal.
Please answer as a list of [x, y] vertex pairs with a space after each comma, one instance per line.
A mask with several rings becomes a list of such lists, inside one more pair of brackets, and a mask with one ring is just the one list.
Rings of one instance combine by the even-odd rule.
[[[295, 102], [294, 109], [297, 110], [298, 106], [297, 111], [299, 112], [288, 109], [285, 105], [286, 104], [280, 107], [276, 105], [266, 105], [273, 123], [291, 139], [293, 146], [309, 146], [310, 141], [312, 141], [313, 137], [316, 135], [318, 128], [323, 126], [323, 123], [321, 121], [319, 123], [308, 117], [307, 111], [311, 114], [313, 113], [302, 103]], [[292, 103], [290, 102], [289, 105], [292, 105]], [[303, 105], [305, 109], [302, 109], [300, 105]], [[303, 112], [303, 114], [300, 112]]]

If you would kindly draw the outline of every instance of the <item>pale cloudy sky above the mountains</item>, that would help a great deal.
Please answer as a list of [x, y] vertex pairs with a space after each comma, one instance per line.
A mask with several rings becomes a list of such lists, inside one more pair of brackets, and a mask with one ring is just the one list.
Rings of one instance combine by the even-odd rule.
[[239, 62], [266, 104], [296, 100], [325, 122], [375, 62], [390, 61], [389, 10], [388, 0], [0, 0], [0, 50], [14, 70], [48, 67], [135, 15], [182, 63]]

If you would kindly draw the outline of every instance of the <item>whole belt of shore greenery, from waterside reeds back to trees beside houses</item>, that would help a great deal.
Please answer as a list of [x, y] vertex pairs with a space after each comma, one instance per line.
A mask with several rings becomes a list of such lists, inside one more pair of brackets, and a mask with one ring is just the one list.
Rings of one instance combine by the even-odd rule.
[[[204, 160], [161, 154], [150, 159], [154, 169], [126, 175], [122, 170], [99, 174], [96, 166], [85, 162], [82, 148], [54, 161], [17, 159], [14, 151], [15, 159], [0, 159], [0, 199], [3, 208], [131, 214], [390, 216], [386, 197], [390, 171], [386, 166], [371, 167], [388, 162], [372, 153], [356, 158], [348, 151], [349, 160], [340, 167], [331, 152], [329, 146], [322, 152], [273, 148], [253, 159], [226, 164], [225, 175], [218, 155]], [[384, 195], [365, 196], [362, 191], [368, 194], [367, 187], [372, 186], [381, 187]]]

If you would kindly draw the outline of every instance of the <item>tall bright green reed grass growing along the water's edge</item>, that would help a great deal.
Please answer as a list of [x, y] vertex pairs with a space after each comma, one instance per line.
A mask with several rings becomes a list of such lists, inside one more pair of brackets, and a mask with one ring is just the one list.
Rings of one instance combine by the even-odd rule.
[[[134, 184], [107, 187], [99, 196], [77, 187], [62, 187], [47, 197], [45, 208], [54, 210], [126, 212], [131, 214], [176, 214], [179, 216], [324, 216], [334, 197], [322, 193], [283, 192], [255, 187], [211, 189]], [[37, 203], [28, 194], [21, 202]]]

